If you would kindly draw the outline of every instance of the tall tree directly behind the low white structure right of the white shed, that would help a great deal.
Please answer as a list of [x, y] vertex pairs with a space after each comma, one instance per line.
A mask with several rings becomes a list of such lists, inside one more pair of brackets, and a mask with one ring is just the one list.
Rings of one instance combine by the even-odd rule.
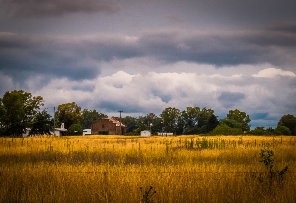
[[180, 110], [175, 107], [168, 107], [163, 110], [160, 117], [164, 120], [166, 132], [177, 133], [177, 123], [180, 119]]

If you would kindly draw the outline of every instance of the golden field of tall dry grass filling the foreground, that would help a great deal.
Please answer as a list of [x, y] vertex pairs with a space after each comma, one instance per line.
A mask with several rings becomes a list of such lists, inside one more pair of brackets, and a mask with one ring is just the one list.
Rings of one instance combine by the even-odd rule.
[[[268, 178], [260, 149], [289, 171]], [[0, 138], [0, 202], [141, 202], [149, 186], [153, 202], [296, 202], [295, 152], [293, 136]]]

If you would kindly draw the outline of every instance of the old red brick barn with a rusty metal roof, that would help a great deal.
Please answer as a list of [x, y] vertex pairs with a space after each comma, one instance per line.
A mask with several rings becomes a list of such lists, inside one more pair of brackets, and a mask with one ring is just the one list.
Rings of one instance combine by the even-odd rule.
[[[115, 118], [102, 118], [91, 123], [93, 135], [120, 135], [120, 122]], [[121, 134], [126, 135], [126, 125], [121, 123]]]

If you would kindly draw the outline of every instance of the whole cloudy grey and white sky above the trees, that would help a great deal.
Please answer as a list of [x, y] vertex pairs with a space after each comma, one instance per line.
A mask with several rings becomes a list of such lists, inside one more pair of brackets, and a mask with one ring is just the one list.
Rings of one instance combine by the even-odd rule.
[[0, 0], [0, 97], [111, 116], [296, 116], [295, 0]]

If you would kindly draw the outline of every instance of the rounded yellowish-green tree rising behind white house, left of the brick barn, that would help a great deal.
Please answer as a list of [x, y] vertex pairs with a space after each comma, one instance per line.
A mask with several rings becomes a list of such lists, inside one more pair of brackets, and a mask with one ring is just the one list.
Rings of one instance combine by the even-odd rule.
[[60, 104], [56, 111], [56, 118], [59, 123], [65, 123], [65, 128], [69, 128], [73, 124], [79, 124], [81, 107], [75, 102]]

